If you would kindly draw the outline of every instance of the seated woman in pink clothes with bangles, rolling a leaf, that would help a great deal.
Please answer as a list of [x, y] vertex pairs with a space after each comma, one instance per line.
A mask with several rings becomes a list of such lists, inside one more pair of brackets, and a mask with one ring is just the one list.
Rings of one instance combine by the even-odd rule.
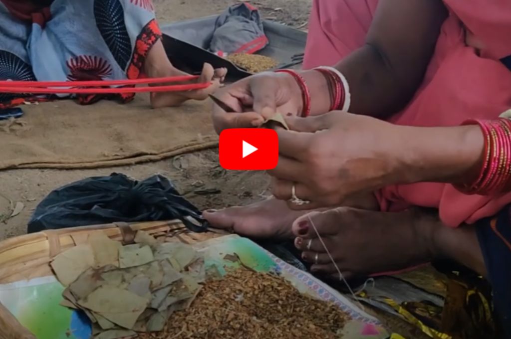
[[490, 280], [511, 335], [509, 56], [508, 1], [315, 0], [309, 70], [241, 80], [218, 94], [238, 113], [213, 111], [218, 132], [288, 115], [269, 171], [280, 200], [204, 217], [294, 238], [317, 273], [455, 260]]

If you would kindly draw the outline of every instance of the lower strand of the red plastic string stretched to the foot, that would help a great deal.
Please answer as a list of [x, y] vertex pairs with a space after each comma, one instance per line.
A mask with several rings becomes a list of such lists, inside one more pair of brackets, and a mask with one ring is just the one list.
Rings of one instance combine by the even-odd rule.
[[210, 83], [147, 86], [147, 87], [121, 87], [121, 88], [38, 88], [38, 87], [0, 87], [3, 93], [31, 93], [31, 94], [117, 94], [142, 92], [182, 92], [194, 89], [204, 89]]

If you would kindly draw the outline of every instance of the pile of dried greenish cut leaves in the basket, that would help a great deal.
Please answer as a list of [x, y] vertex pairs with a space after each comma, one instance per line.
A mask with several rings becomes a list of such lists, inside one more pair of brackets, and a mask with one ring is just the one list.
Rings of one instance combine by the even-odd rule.
[[61, 304], [87, 314], [95, 339], [163, 330], [174, 311], [190, 306], [205, 281], [204, 258], [191, 246], [159, 243], [142, 231], [135, 243], [122, 246], [95, 233], [52, 262], [67, 286]]

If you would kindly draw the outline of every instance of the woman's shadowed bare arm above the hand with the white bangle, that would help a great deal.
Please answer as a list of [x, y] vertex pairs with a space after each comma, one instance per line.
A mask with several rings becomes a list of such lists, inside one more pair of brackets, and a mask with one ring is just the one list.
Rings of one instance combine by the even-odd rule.
[[[350, 112], [386, 118], [405, 107], [424, 79], [446, 17], [440, 0], [381, 0], [365, 44], [335, 65], [349, 83]], [[326, 81], [317, 71], [304, 78], [311, 113], [326, 113]]]

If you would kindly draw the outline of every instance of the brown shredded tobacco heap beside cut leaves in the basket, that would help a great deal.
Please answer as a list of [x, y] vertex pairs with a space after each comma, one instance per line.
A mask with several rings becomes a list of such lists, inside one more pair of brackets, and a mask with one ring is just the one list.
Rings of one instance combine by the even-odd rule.
[[281, 277], [240, 269], [208, 280], [164, 332], [138, 338], [329, 339], [340, 337], [347, 319], [337, 306], [300, 294]]

